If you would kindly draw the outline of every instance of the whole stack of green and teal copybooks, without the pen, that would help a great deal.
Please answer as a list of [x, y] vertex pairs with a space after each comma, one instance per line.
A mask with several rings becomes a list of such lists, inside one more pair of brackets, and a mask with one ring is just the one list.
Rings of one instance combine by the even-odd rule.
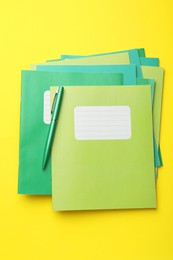
[[54, 210], [156, 208], [163, 76], [144, 49], [62, 55], [22, 71], [18, 193], [52, 195]]

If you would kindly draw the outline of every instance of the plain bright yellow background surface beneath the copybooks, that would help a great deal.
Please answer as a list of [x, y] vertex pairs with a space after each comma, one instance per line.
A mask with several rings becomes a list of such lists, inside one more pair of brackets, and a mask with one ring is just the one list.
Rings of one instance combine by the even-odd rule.
[[[172, 0], [1, 1], [0, 259], [173, 259], [172, 10]], [[166, 71], [157, 210], [56, 213], [50, 197], [17, 195], [21, 69], [135, 47]]]

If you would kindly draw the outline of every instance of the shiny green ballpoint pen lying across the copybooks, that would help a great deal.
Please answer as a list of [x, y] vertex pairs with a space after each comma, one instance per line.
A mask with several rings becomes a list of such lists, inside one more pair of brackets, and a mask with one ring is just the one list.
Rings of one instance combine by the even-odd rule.
[[56, 92], [55, 97], [54, 97], [54, 102], [52, 105], [52, 118], [51, 118], [51, 123], [49, 126], [46, 145], [44, 148], [43, 164], [42, 164], [43, 169], [46, 168], [47, 162], [49, 160], [52, 143], [53, 143], [53, 138], [54, 138], [54, 134], [55, 134], [55, 129], [56, 129], [56, 124], [57, 124], [57, 119], [58, 119], [58, 115], [60, 112], [63, 90], [64, 90], [63, 87], [59, 87], [59, 89]]

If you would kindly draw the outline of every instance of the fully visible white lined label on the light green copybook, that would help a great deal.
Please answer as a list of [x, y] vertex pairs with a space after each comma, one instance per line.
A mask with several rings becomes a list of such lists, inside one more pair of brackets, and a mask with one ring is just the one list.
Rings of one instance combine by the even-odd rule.
[[79, 106], [74, 109], [77, 140], [123, 140], [131, 137], [128, 106]]

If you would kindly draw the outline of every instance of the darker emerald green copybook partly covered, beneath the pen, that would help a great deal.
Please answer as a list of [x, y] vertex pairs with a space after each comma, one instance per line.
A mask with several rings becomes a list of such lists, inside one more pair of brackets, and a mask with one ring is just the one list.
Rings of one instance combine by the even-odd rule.
[[50, 123], [50, 86], [122, 85], [116, 73], [22, 72], [19, 194], [51, 194], [51, 163], [42, 170], [42, 160]]

